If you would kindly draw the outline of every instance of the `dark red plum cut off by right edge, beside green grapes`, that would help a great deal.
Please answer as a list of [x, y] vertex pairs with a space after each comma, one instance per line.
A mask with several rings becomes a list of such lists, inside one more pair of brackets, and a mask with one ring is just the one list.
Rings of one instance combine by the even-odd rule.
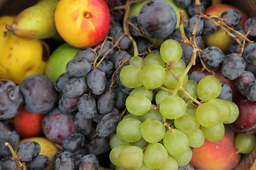
[[234, 101], [239, 108], [238, 119], [232, 123], [235, 132], [241, 134], [256, 133], [256, 102], [249, 101], [247, 97], [240, 96]]

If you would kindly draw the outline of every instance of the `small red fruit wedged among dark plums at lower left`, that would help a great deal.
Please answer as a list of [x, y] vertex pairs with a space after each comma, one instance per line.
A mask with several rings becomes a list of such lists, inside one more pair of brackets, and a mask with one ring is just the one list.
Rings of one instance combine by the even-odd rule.
[[31, 113], [22, 108], [21, 112], [13, 120], [22, 138], [38, 137], [43, 134], [43, 114]]

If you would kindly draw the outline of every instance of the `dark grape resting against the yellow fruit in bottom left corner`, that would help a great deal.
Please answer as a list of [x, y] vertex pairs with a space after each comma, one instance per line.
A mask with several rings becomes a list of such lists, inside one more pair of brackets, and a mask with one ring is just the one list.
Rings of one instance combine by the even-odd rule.
[[36, 141], [23, 142], [17, 148], [17, 156], [21, 162], [31, 162], [41, 152], [41, 146]]

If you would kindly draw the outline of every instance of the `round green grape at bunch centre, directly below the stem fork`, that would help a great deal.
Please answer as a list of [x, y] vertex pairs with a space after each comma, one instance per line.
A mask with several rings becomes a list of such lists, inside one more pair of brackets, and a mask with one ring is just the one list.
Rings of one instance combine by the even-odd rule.
[[181, 118], [186, 113], [186, 102], [178, 96], [169, 96], [160, 103], [159, 111], [164, 118]]

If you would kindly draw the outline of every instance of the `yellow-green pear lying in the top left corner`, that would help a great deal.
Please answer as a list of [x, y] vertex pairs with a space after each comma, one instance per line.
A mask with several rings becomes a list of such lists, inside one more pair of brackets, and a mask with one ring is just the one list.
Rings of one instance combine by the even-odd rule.
[[54, 21], [58, 1], [39, 0], [35, 5], [18, 13], [11, 26], [6, 24], [6, 29], [28, 40], [58, 37]]

